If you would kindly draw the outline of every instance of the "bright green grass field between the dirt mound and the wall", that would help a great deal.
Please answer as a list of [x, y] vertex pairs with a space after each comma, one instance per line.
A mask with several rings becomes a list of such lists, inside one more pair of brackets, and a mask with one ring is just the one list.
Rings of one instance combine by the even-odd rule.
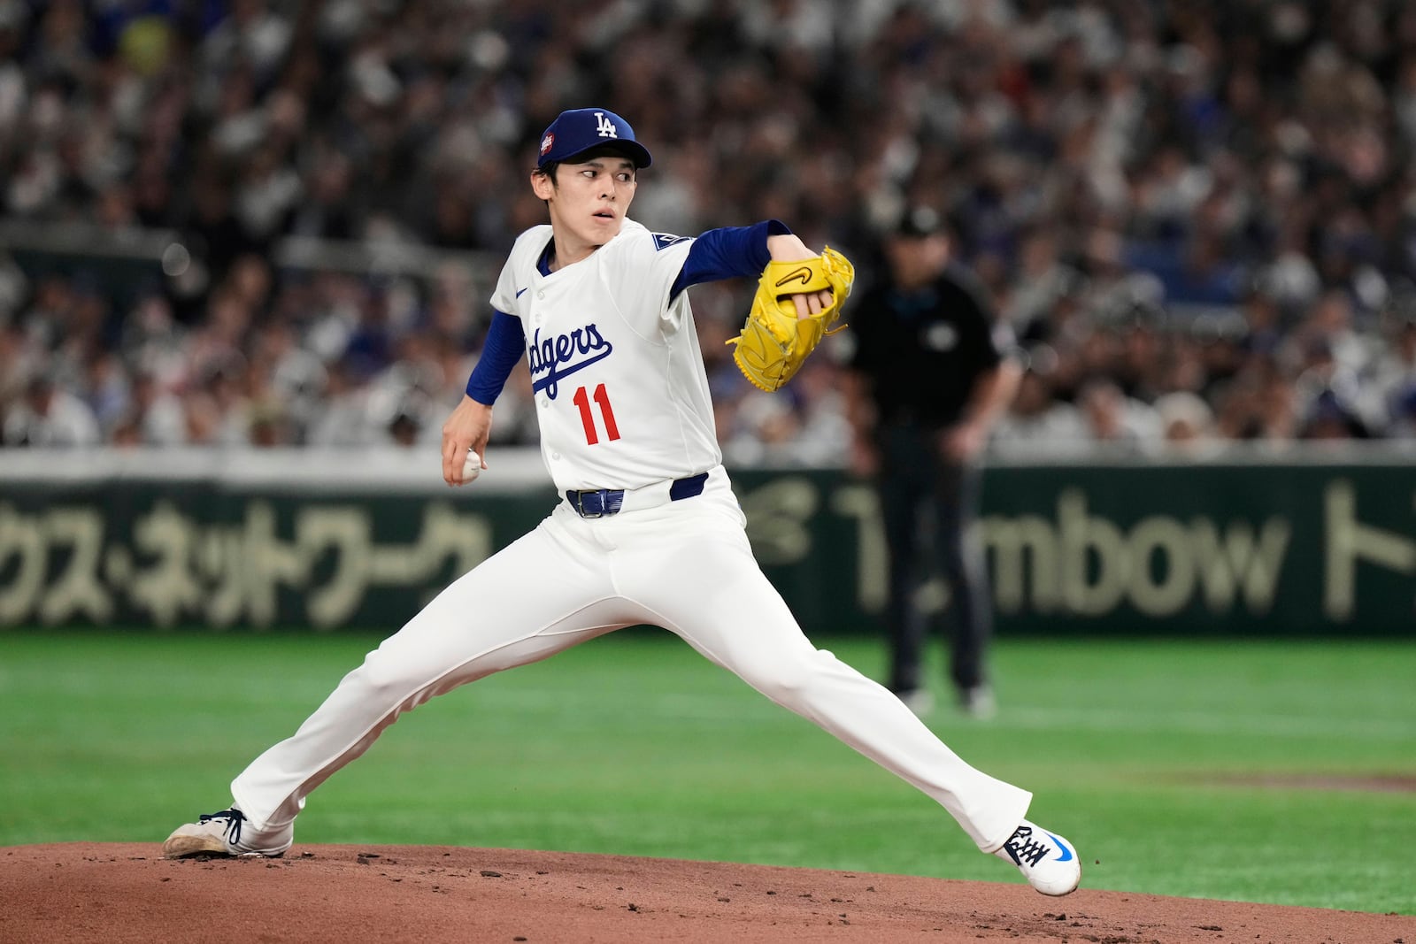
[[[160, 842], [228, 802], [370, 635], [0, 633], [0, 845]], [[827, 640], [871, 675], [871, 640]], [[937, 655], [936, 655], [937, 658]], [[1000, 641], [930, 725], [1035, 793], [1085, 887], [1416, 914], [1416, 645]], [[940, 701], [947, 692], [940, 686]], [[930, 800], [661, 633], [435, 699], [297, 842], [561, 849], [1021, 882]]]

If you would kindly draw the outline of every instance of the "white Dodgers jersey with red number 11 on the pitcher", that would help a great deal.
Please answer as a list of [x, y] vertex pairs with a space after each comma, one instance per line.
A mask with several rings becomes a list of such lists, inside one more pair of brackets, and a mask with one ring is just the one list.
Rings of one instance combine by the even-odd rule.
[[491, 304], [521, 320], [556, 488], [639, 488], [722, 461], [688, 292], [668, 297], [694, 241], [626, 219], [547, 276], [549, 239], [551, 226], [521, 234]]

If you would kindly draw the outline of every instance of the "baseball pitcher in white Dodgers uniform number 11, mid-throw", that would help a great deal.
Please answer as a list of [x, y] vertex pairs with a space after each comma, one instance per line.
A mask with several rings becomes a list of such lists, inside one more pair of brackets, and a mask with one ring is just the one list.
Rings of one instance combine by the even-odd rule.
[[443, 426], [443, 477], [466, 484], [489, 467], [493, 405], [525, 357], [555, 508], [370, 652], [232, 781], [229, 808], [173, 832], [166, 856], [283, 855], [310, 793], [404, 712], [654, 624], [935, 798], [1039, 892], [1078, 886], [1072, 845], [1024, 818], [1031, 794], [970, 767], [889, 691], [817, 650], [748, 545], [688, 289], [759, 279], [735, 361], [773, 391], [831, 328], [851, 263], [811, 252], [777, 221], [697, 238], [646, 229], [626, 214], [650, 161], [629, 123], [603, 108], [564, 112], [545, 130], [530, 183], [549, 225], [513, 246], [486, 350]]

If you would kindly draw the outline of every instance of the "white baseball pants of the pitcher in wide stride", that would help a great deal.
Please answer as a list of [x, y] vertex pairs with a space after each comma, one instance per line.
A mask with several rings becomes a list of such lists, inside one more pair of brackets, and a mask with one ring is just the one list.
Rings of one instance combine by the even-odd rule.
[[566, 502], [370, 652], [289, 739], [231, 784], [242, 841], [292, 828], [304, 800], [435, 695], [636, 624], [661, 626], [947, 810], [984, 852], [1032, 795], [974, 770], [888, 689], [817, 650], [763, 576], [726, 476], [704, 494], [583, 519]]

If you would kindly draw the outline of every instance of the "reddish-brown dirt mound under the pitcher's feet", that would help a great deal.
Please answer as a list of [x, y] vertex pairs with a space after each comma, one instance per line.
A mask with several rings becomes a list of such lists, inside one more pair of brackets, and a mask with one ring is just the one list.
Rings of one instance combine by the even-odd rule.
[[[1085, 876], [1083, 876], [1085, 883]], [[606, 855], [297, 845], [285, 859], [156, 844], [0, 849], [0, 940], [1104, 941], [1416, 944], [1416, 919], [1082, 889]]]

